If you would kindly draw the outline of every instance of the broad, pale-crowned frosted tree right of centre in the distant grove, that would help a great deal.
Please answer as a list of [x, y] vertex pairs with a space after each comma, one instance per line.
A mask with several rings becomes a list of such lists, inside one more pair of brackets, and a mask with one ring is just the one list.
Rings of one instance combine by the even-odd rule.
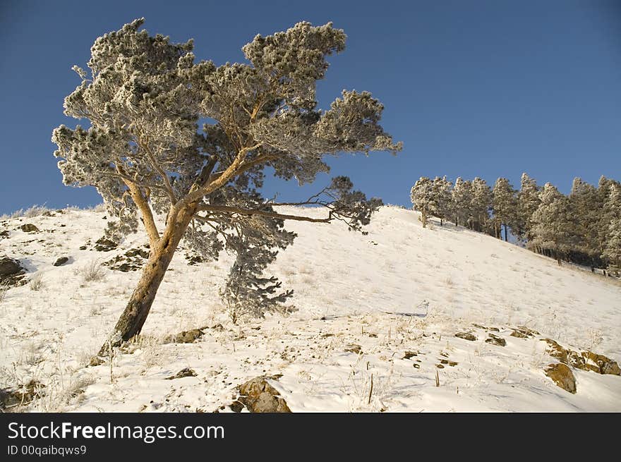
[[549, 253], [558, 264], [576, 244], [574, 219], [567, 196], [550, 183], [545, 183], [540, 194], [541, 203], [531, 217], [530, 248]]

